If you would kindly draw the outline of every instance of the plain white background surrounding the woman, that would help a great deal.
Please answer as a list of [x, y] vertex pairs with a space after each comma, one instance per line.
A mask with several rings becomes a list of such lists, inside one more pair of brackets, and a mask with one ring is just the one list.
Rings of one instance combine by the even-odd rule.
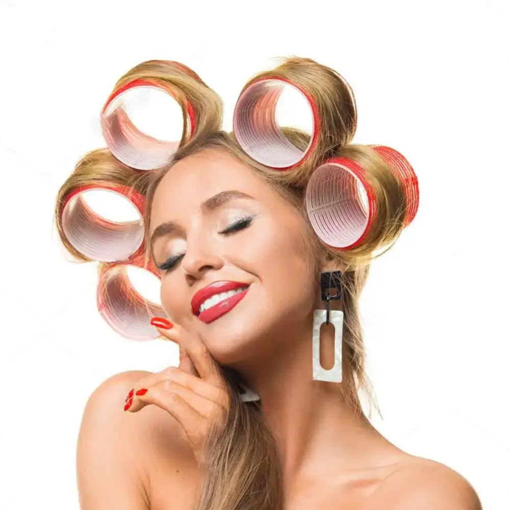
[[0, 0], [0, 508], [78, 509], [90, 393], [178, 363], [175, 345], [101, 319], [96, 265], [68, 261], [54, 228], [59, 186], [105, 146], [115, 81], [145, 60], [183, 62], [220, 94], [230, 130], [244, 83], [286, 55], [340, 72], [353, 142], [397, 148], [419, 178], [418, 215], [362, 296], [374, 424], [464, 475], [484, 510], [509, 508], [509, 21], [503, 0]]

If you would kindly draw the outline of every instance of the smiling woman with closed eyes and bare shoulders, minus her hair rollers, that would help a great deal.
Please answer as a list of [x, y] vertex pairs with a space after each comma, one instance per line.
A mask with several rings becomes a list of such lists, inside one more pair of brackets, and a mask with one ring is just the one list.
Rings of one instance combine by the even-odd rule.
[[[372, 165], [374, 179], [388, 170], [347, 139], [337, 155]], [[297, 133], [294, 143], [308, 140]], [[321, 242], [304, 207], [310, 174], [289, 175], [212, 130], [140, 177], [147, 257], [172, 318], [151, 324], [181, 361], [114, 375], [89, 398], [77, 455], [83, 510], [481, 508], [465, 478], [402, 451], [362, 411], [359, 390], [372, 396], [358, 314], [367, 259]], [[384, 186], [398, 234], [405, 198], [397, 180]], [[312, 374], [317, 310], [343, 319], [341, 370], [338, 332], [320, 327], [320, 365], [340, 381]]]

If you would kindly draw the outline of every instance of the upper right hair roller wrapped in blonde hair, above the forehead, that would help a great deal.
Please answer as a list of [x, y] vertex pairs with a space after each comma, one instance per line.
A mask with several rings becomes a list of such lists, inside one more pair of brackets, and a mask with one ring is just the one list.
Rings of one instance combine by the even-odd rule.
[[[286, 86], [299, 92], [312, 114], [312, 134], [304, 149], [276, 121], [277, 101]], [[296, 57], [246, 83], [234, 109], [233, 131], [250, 158], [276, 170], [292, 169], [299, 179], [351, 141], [356, 118], [354, 95], [340, 74]]]

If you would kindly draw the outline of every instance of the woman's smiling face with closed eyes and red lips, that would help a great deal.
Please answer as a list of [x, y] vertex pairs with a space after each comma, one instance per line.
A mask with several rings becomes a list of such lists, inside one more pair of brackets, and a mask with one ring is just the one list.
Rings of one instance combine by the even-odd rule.
[[[201, 208], [234, 190], [252, 198], [227, 196]], [[301, 221], [263, 177], [221, 149], [175, 163], [158, 185], [149, 240], [159, 225], [172, 222], [170, 232], [154, 237], [153, 253], [158, 266], [175, 260], [172, 268], [160, 269], [163, 309], [196, 331], [219, 363], [270, 353], [303, 327], [317, 290]], [[240, 282], [248, 290], [233, 307], [216, 306], [219, 315], [212, 309], [195, 315], [195, 293], [219, 281]]]

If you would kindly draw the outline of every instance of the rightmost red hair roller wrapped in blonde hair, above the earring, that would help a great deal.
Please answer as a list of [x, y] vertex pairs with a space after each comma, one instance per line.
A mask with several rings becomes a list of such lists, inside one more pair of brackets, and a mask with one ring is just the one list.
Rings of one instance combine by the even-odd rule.
[[[371, 150], [386, 164], [380, 165]], [[305, 206], [322, 242], [366, 256], [394, 241], [414, 219], [418, 179], [409, 162], [391, 147], [353, 145], [344, 152], [315, 169], [305, 191]]]

